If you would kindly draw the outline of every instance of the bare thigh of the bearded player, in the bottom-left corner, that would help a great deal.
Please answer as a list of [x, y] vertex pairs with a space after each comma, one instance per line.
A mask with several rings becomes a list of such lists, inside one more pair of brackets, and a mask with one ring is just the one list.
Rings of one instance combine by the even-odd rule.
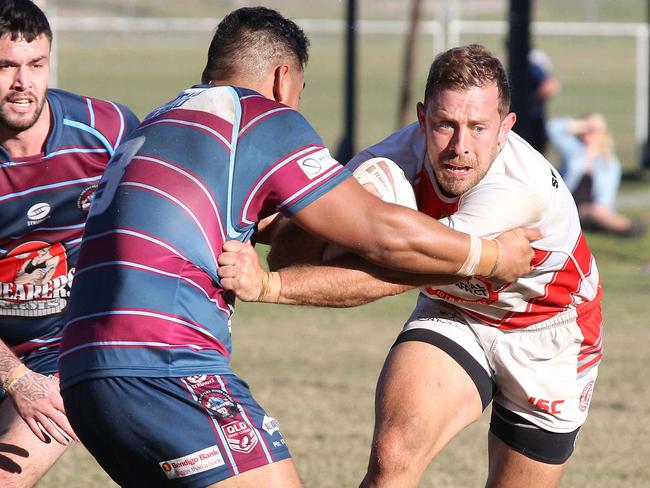
[[64, 450], [58, 442], [38, 439], [10, 398], [0, 400], [0, 486], [33, 486]]

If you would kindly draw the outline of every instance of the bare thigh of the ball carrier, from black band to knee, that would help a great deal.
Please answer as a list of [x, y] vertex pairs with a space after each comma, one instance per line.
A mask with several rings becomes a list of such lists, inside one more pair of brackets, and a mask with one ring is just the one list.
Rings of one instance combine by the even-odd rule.
[[[447, 352], [406, 341], [390, 351], [379, 377], [374, 444], [435, 456], [483, 410], [475, 383]], [[397, 444], [396, 444], [397, 443]]]

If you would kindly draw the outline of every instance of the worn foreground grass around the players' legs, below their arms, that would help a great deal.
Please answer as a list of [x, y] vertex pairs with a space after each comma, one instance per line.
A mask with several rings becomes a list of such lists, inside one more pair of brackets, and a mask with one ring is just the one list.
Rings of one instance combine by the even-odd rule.
[[[650, 479], [650, 238], [588, 240], [605, 289], [605, 359], [563, 486], [642, 488]], [[350, 310], [239, 304], [234, 369], [279, 419], [306, 486], [352, 487], [362, 478], [375, 381], [414, 300], [408, 293]], [[482, 486], [487, 421], [484, 415], [454, 440], [421, 486]], [[75, 446], [39, 486], [114, 485]]]

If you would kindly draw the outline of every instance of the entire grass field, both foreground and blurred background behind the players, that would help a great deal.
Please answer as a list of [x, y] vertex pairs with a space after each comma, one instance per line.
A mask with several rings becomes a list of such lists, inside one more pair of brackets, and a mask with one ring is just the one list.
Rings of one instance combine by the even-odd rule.
[[[63, 3], [63, 2], [61, 2]], [[132, 1], [134, 11], [153, 15], [168, 2]], [[214, 2], [213, 2], [214, 3]], [[217, 2], [214, 15], [247, 2]], [[288, 10], [294, 17], [322, 14], [336, 18], [339, 2], [261, 2]], [[432, 4], [427, 2], [430, 10]], [[440, 3], [440, 2], [438, 2]], [[499, 3], [499, 2], [495, 2]], [[504, 2], [502, 2], [503, 4]], [[584, 20], [578, 4], [538, 2], [543, 20]], [[171, 2], [170, 2], [171, 4]], [[175, 2], [174, 2], [175, 4]], [[334, 4], [334, 6], [332, 6]], [[405, 15], [399, 2], [381, 2], [373, 18]], [[641, 21], [644, 2], [598, 2], [597, 20]], [[66, 2], [103, 15], [122, 15], [116, 2]], [[180, 3], [179, 3], [180, 5]], [[205, 13], [207, 2], [191, 3]], [[390, 6], [393, 10], [390, 10]], [[398, 5], [398, 6], [396, 6]], [[543, 6], [542, 6], [543, 5]], [[286, 7], [286, 8], [285, 8]], [[616, 8], [614, 8], [616, 7]], [[62, 10], [65, 10], [63, 6]], [[560, 14], [560, 11], [563, 11]], [[172, 9], [173, 10], [173, 9]], [[126, 13], [129, 13], [126, 9]], [[180, 12], [180, 13], [179, 13]], [[184, 12], [184, 13], [183, 13]], [[188, 15], [188, 10], [168, 11]], [[372, 13], [368, 13], [372, 12]], [[477, 18], [503, 18], [478, 13]], [[594, 19], [589, 19], [594, 20]], [[138, 35], [101, 34], [59, 37], [59, 86], [129, 104], [140, 116], [197, 81], [209, 33]], [[403, 39], [368, 35], [360, 40], [358, 145], [371, 144], [395, 128]], [[502, 52], [502, 39], [484, 42]], [[618, 151], [628, 170], [636, 167], [632, 138], [634, 46], [629, 40], [540, 39], [563, 83], [553, 114], [598, 110], [607, 116]], [[415, 93], [424, 85], [431, 57], [430, 39], [420, 39]], [[303, 112], [332, 147], [341, 136], [342, 40], [312, 36], [311, 62]], [[648, 192], [648, 178], [626, 183], [624, 191]], [[650, 207], [631, 210], [650, 215]], [[580, 436], [563, 486], [646, 487], [650, 480], [650, 237], [627, 241], [588, 235], [605, 289], [605, 359], [596, 385], [590, 418]], [[249, 381], [257, 399], [278, 418], [306, 486], [355, 486], [363, 476], [373, 425], [375, 381], [386, 351], [407, 317], [414, 294], [384, 299], [351, 310], [322, 310], [239, 304], [233, 324], [235, 370]], [[423, 487], [478, 487], [486, 474], [487, 417], [459, 436], [432, 464]], [[179, 429], [179, 426], [161, 426]], [[182, 426], [179, 435], [183, 435]], [[191, 435], [191, 432], [186, 433]], [[39, 484], [41, 488], [114, 486], [81, 446], [74, 446]]]

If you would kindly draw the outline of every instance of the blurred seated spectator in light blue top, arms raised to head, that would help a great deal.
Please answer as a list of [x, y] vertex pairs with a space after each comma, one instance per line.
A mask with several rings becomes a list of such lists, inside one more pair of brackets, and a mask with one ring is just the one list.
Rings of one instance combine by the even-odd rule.
[[605, 118], [596, 113], [577, 119], [556, 118], [548, 123], [547, 129], [583, 228], [623, 237], [643, 235], [646, 222], [630, 220], [614, 209], [621, 182], [621, 163], [614, 153]]

